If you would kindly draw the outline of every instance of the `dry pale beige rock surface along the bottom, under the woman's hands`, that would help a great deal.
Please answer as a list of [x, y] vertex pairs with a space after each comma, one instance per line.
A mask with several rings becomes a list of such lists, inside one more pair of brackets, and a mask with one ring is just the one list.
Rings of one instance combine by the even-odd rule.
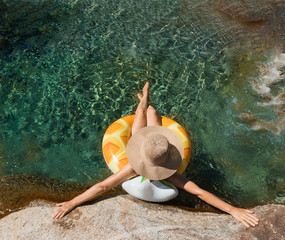
[[54, 204], [35, 201], [0, 220], [1, 240], [14, 239], [285, 239], [285, 206], [255, 207], [260, 224], [246, 229], [230, 215], [190, 212], [129, 195], [80, 206], [60, 220]]

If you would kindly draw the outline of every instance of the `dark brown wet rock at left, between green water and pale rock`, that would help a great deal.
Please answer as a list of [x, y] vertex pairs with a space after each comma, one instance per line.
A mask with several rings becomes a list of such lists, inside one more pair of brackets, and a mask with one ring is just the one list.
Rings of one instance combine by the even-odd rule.
[[33, 200], [67, 201], [86, 189], [87, 186], [42, 176], [11, 174], [0, 177], [0, 218]]

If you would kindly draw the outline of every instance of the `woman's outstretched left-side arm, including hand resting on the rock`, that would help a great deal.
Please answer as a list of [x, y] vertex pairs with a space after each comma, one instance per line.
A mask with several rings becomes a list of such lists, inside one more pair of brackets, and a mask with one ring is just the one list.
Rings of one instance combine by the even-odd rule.
[[77, 197], [73, 198], [72, 200], [57, 204], [57, 206], [59, 206], [60, 208], [57, 209], [52, 218], [62, 218], [65, 214], [70, 212], [76, 206], [94, 199], [95, 197], [107, 192], [111, 188], [117, 186], [118, 184], [122, 183], [123, 181], [134, 175], [136, 175], [135, 171], [130, 166], [130, 164], [127, 164], [119, 172], [111, 175], [104, 181], [93, 185], [91, 188], [86, 190], [84, 193], [78, 195]]

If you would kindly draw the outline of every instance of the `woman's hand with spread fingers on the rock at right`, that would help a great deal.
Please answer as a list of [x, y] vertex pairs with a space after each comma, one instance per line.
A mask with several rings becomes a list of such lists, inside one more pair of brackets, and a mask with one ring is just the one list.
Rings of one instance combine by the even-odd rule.
[[250, 226], [255, 227], [259, 221], [259, 219], [253, 215], [253, 211], [247, 209], [234, 207], [229, 213], [247, 228]]

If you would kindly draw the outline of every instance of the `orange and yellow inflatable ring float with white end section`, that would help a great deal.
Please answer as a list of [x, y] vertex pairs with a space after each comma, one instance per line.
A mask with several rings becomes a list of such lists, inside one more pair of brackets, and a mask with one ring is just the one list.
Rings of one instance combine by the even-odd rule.
[[[128, 164], [126, 147], [131, 137], [135, 115], [125, 116], [112, 123], [103, 137], [102, 149], [104, 159], [113, 173]], [[162, 117], [162, 126], [175, 132], [184, 147], [184, 156], [177, 172], [183, 173], [190, 161], [191, 142], [184, 128], [176, 121]], [[129, 194], [151, 202], [164, 202], [177, 196], [178, 190], [165, 180], [151, 181], [142, 176], [128, 180], [122, 184]]]

